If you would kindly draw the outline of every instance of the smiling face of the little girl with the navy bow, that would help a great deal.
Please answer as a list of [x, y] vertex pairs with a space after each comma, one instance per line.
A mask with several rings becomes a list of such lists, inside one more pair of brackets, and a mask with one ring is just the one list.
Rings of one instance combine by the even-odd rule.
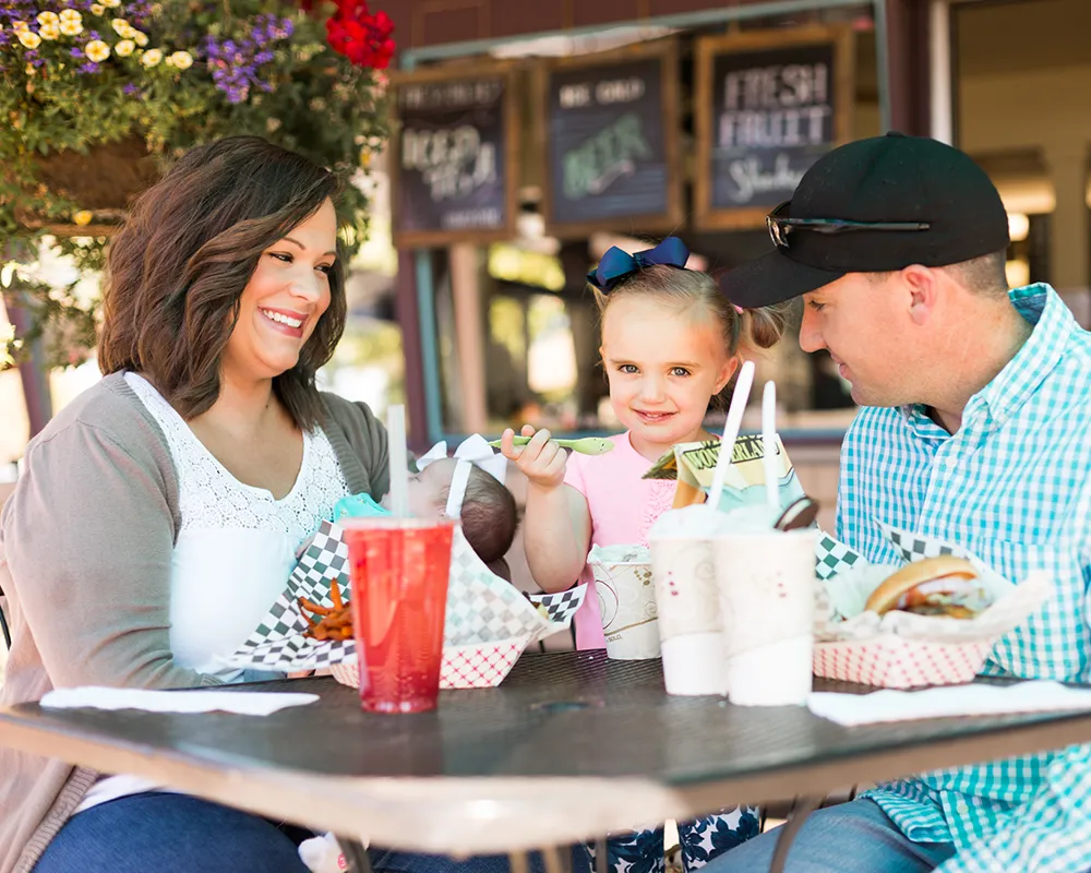
[[600, 351], [614, 412], [649, 458], [697, 439], [736, 363], [714, 319], [639, 297], [610, 303]]

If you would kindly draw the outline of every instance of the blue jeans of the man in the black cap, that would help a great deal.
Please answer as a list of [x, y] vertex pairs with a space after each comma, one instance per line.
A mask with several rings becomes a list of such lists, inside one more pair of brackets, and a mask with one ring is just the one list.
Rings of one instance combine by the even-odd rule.
[[[702, 873], [757, 873], [769, 869], [781, 828], [769, 830], [711, 861]], [[872, 800], [853, 800], [812, 813], [795, 835], [786, 873], [925, 873], [955, 857], [950, 842], [913, 842]]]

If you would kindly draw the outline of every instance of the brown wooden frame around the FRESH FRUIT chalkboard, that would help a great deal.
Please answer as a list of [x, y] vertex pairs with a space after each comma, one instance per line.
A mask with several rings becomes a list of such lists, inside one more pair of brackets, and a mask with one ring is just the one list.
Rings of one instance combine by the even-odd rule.
[[[793, 48], [830, 46], [832, 67], [829, 95], [832, 98], [834, 139], [829, 148], [847, 143], [852, 136], [853, 34], [849, 26], [814, 26], [784, 31], [756, 31], [728, 36], [707, 36], [696, 46], [696, 167], [694, 170], [694, 226], [699, 230], [733, 230], [760, 227], [776, 204], [756, 207], [724, 208], [712, 204], [715, 172], [714, 132], [718, 107], [714, 75], [716, 61], [724, 55], [764, 55]], [[756, 151], [756, 150], [755, 150]], [[763, 150], [764, 151], [764, 150]], [[787, 195], [784, 198], [788, 199]]]

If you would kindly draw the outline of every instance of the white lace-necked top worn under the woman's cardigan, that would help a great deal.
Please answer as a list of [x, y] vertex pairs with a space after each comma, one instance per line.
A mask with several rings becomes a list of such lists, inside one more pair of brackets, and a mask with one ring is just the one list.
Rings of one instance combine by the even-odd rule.
[[[125, 382], [163, 429], [178, 474], [181, 529], [170, 557], [170, 650], [183, 667], [225, 682], [256, 679], [220, 658], [250, 636], [284, 590], [298, 546], [349, 493], [337, 455], [321, 428], [304, 431], [296, 485], [276, 500], [228, 473], [146, 379], [125, 373]], [[107, 776], [75, 812], [154, 790], [169, 789], [139, 776]]]

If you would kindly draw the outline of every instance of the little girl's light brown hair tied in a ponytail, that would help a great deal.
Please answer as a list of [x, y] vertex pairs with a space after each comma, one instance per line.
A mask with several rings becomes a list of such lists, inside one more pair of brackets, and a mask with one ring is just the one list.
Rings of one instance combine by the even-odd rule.
[[662, 302], [680, 313], [693, 312], [695, 320], [705, 321], [706, 316], [711, 316], [720, 327], [729, 356], [775, 346], [784, 333], [791, 312], [790, 303], [739, 312], [710, 275], [667, 264], [637, 270], [609, 292], [594, 286], [591, 290], [600, 319], [606, 318], [614, 300], [637, 296]]

